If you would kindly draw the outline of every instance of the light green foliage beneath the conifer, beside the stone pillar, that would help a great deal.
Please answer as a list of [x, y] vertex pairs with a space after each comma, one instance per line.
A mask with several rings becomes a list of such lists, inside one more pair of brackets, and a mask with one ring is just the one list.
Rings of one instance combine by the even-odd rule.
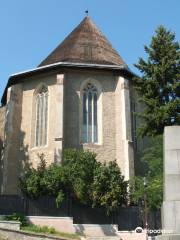
[[163, 200], [163, 140], [161, 135], [151, 139], [150, 146], [144, 151], [141, 160], [146, 164], [147, 186], [144, 186], [144, 177], [136, 176], [130, 182], [131, 201], [139, 204], [144, 200], [146, 193], [149, 211], [158, 210]]

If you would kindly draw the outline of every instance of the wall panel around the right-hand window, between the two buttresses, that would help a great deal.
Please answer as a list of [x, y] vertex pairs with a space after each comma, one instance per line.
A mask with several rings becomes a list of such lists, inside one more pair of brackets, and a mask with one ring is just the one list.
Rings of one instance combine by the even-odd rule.
[[[87, 79], [97, 81], [102, 88], [102, 143], [82, 144], [80, 137], [80, 88]], [[65, 78], [65, 148], [94, 151], [101, 162], [116, 159], [115, 129], [116, 79], [110, 73], [69, 72]]]

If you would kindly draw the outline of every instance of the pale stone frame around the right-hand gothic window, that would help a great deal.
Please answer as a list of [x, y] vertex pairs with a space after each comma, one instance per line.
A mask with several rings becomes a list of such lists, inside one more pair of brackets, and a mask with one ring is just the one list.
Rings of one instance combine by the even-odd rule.
[[[84, 88], [87, 84], [92, 84], [97, 89], [97, 142], [83, 142], [83, 95]], [[80, 86], [80, 106], [79, 106], [79, 142], [83, 145], [102, 145], [102, 86], [100, 82], [94, 78], [85, 79]]]

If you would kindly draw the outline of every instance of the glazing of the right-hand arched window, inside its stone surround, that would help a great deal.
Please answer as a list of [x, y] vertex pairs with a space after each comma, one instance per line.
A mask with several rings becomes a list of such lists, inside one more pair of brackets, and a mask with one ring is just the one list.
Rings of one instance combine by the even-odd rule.
[[97, 116], [97, 88], [87, 83], [83, 88], [82, 113], [83, 113], [83, 129], [82, 140], [84, 143], [98, 142], [98, 116]]

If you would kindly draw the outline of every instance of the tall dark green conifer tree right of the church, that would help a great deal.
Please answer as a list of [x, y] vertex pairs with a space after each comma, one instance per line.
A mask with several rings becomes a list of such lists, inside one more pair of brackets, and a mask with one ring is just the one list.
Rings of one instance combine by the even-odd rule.
[[142, 76], [134, 78], [139, 101], [145, 106], [137, 115], [142, 119], [141, 136], [162, 134], [164, 126], [180, 124], [180, 45], [175, 34], [160, 26], [144, 50], [147, 60], [135, 66]]

